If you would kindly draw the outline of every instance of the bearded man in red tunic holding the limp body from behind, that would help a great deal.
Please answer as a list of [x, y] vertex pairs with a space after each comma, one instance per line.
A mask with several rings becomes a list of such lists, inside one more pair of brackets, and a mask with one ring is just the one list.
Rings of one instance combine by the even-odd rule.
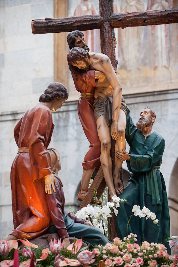
[[[67, 36], [67, 43], [70, 49], [73, 47], [80, 47], [89, 51], [84, 39], [84, 34], [81, 31], [77, 30], [70, 32]], [[100, 166], [101, 143], [97, 133], [93, 103], [95, 86], [101, 72], [96, 70], [81, 72], [78, 75], [77, 80], [75, 79], [74, 74], [71, 74], [76, 90], [81, 93], [81, 97], [78, 100], [78, 116], [84, 129], [84, 133], [90, 143], [89, 150], [82, 163], [84, 171], [80, 192], [78, 194], [78, 200], [82, 201], [88, 191], [89, 181], [94, 169]]]

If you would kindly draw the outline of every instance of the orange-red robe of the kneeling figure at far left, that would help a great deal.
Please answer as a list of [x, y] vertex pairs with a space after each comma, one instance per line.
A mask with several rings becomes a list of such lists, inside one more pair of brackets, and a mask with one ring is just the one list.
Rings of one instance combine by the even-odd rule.
[[29, 153], [19, 153], [11, 168], [12, 211], [14, 230], [18, 239], [34, 239], [47, 232], [49, 214], [45, 181], [51, 174], [47, 147], [53, 132], [51, 111], [39, 103], [30, 107], [15, 126], [18, 147], [29, 147]]

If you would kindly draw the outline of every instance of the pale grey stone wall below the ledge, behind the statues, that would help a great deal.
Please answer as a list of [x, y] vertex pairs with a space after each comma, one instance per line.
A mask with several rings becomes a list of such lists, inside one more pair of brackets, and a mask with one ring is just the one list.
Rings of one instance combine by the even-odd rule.
[[[165, 179], [168, 196], [172, 196], [170, 189], [170, 179], [174, 165], [178, 158], [178, 137], [177, 137], [177, 115], [178, 115], [178, 90], [169, 90], [164, 92], [142, 93], [125, 96], [126, 103], [131, 110], [131, 116], [134, 123], [137, 122], [141, 109], [151, 107], [156, 112], [156, 121], [153, 130], [162, 135], [166, 140], [161, 172]], [[0, 156], [0, 238], [7, 236], [12, 230], [12, 207], [11, 207], [11, 187], [10, 187], [10, 168], [12, 161], [17, 153], [17, 145], [13, 137], [13, 128], [23, 112], [7, 112], [1, 115], [1, 156]], [[82, 126], [78, 119], [77, 101], [66, 102], [62, 109], [53, 112], [53, 123], [55, 124], [53, 136], [49, 147], [56, 148], [61, 155], [62, 170], [59, 176], [63, 182], [65, 194], [65, 205], [68, 210], [69, 205], [77, 209], [81, 203], [76, 200], [78, 187], [80, 186], [82, 176], [81, 162], [88, 150], [89, 143], [84, 135]], [[174, 125], [174, 131], [173, 131]], [[129, 148], [127, 146], [127, 151]], [[127, 170], [124, 163], [123, 168]], [[175, 186], [177, 186], [175, 184]], [[173, 188], [175, 188], [173, 186]], [[178, 208], [176, 201], [178, 195], [174, 190], [174, 200], [170, 199], [170, 212], [174, 216], [171, 223], [173, 232], [178, 230]], [[177, 224], [176, 224], [177, 222]]]

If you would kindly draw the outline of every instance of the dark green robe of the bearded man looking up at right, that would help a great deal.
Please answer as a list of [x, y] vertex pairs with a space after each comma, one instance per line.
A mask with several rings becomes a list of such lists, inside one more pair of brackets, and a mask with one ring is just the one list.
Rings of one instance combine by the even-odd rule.
[[[119, 213], [116, 217], [117, 236], [121, 239], [126, 236], [127, 222], [132, 214], [133, 205], [139, 205], [140, 209], [146, 206], [151, 212], [156, 214], [156, 219], [159, 220], [159, 227], [151, 219], [146, 220], [146, 217], [139, 218], [139, 216], [133, 215], [130, 221], [129, 233], [137, 234], [137, 243], [139, 244], [145, 240], [148, 242], [163, 243], [163, 240], [170, 236], [166, 186], [161, 172], [156, 170], [154, 180], [151, 171], [154, 170], [154, 166], [161, 165], [165, 140], [156, 132], [153, 132], [145, 139], [141, 130], [134, 125], [129, 112], [130, 110], [127, 109], [125, 134], [130, 146], [130, 161], [127, 161], [127, 167], [132, 174], [129, 177], [127, 187], [119, 196], [120, 198], [127, 199], [128, 203], [120, 202]], [[157, 183], [157, 198], [153, 201], [153, 195], [148, 194], [148, 173], [151, 173], [150, 179], [152, 185], [155, 185], [153, 181]], [[154, 189], [155, 186], [153, 186], [152, 190]], [[170, 253], [168, 245], [166, 247], [168, 253]]]

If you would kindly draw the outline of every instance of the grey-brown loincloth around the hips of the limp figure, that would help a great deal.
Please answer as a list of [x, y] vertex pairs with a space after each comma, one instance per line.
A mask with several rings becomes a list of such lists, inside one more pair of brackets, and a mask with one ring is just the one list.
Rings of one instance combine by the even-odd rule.
[[[113, 115], [113, 98], [106, 97], [105, 99], [95, 99], [93, 107], [95, 120], [97, 120], [99, 116], [104, 114], [108, 126], [111, 126]], [[122, 109], [125, 112], [125, 115], [127, 115], [125, 99], [123, 98], [123, 96], [120, 109]]]

